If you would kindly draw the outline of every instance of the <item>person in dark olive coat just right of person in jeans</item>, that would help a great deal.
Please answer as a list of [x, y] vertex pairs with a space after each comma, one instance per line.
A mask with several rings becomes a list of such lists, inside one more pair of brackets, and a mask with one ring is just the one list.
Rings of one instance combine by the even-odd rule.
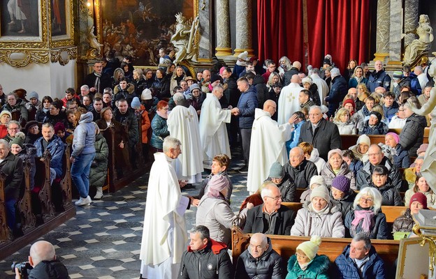
[[94, 143], [96, 156], [91, 164], [91, 172], [89, 172], [89, 185], [96, 188], [94, 199], [101, 199], [108, 174], [109, 147], [105, 137], [100, 133], [99, 126], [95, 122], [92, 123], [96, 129], [96, 141]]

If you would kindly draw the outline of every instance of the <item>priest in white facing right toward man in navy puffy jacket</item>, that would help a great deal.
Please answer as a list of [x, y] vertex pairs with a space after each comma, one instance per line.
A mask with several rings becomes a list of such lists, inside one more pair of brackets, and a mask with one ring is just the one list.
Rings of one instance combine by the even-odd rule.
[[201, 105], [200, 138], [203, 146], [203, 167], [208, 169], [212, 165], [212, 158], [217, 154], [226, 154], [231, 158], [226, 123], [230, 123], [231, 114], [238, 115], [239, 110], [238, 108], [221, 109], [219, 99], [223, 93], [224, 89], [221, 85], [215, 86], [212, 93], [207, 93]]

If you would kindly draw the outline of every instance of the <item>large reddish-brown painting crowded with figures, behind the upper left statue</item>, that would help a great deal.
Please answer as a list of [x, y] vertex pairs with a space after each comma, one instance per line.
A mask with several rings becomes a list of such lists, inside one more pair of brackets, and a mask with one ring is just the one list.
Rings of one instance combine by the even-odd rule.
[[174, 50], [177, 13], [187, 19], [196, 14], [198, 0], [105, 0], [101, 1], [103, 56], [120, 61], [132, 56], [133, 64], [159, 65], [159, 49]]

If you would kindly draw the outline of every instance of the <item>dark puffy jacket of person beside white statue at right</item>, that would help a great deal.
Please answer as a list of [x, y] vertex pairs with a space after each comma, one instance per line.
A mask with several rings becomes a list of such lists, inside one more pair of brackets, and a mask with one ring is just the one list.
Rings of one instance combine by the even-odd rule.
[[427, 127], [426, 117], [412, 114], [407, 118], [405, 126], [400, 133], [402, 149], [409, 152], [410, 157], [416, 156], [416, 151], [424, 140], [424, 128]]

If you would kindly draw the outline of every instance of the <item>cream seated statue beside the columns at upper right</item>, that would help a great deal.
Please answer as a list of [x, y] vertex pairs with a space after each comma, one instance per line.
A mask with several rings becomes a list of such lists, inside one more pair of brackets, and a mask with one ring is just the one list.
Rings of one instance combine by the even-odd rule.
[[423, 52], [430, 50], [431, 42], [433, 42], [433, 29], [430, 27], [428, 15], [419, 16], [418, 27], [414, 33], [419, 38], [412, 40], [412, 43], [405, 48], [403, 63], [408, 65], [413, 65]]

